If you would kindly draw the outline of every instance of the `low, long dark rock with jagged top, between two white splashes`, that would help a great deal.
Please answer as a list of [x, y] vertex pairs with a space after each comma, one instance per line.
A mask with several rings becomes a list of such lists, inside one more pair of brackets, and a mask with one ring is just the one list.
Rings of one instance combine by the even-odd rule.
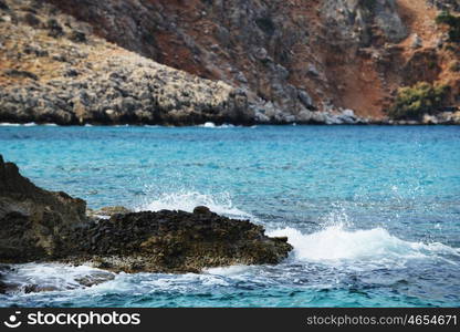
[[[82, 246], [94, 235], [91, 249]], [[92, 262], [124, 272], [200, 272], [232, 264], [274, 264], [292, 247], [269, 238], [261, 226], [233, 220], [197, 207], [194, 214], [161, 210], [113, 215], [69, 237], [72, 247], [64, 262]]]

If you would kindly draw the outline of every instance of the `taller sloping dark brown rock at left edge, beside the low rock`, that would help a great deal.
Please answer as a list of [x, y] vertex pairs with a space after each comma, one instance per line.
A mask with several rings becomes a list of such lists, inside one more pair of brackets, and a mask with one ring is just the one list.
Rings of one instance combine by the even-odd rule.
[[65, 243], [62, 230], [86, 222], [86, 203], [43, 190], [0, 155], [0, 261], [53, 258]]

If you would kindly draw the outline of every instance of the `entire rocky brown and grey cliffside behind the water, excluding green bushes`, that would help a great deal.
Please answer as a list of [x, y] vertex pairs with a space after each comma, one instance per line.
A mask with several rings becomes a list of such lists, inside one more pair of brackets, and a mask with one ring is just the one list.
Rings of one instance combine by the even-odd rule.
[[[29, 90], [48, 100], [54, 87], [65, 91], [48, 102], [64, 122], [71, 116], [75, 123], [356, 123], [355, 115], [378, 121], [398, 87], [419, 81], [450, 85], [449, 103], [460, 103], [460, 52], [435, 23], [437, 10], [458, 10], [458, 0], [2, 2], [10, 7], [2, 10], [7, 21], [19, 27], [1, 24], [7, 38], [0, 43], [21, 53], [3, 59], [10, 87], [0, 96], [8, 101], [0, 105], [3, 121], [21, 113], [18, 103], [30, 94], [11, 77], [28, 81]], [[21, 39], [29, 40], [21, 45]], [[53, 50], [60, 54], [51, 59], [67, 54], [80, 65], [45, 61], [43, 54]], [[56, 74], [19, 65], [27, 59], [56, 68]], [[36, 89], [36, 81], [46, 84]]]

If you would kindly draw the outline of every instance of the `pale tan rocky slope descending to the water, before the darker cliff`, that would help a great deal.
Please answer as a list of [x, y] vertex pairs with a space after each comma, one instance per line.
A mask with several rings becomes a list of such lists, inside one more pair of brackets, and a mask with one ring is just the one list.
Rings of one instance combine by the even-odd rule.
[[0, 122], [251, 124], [243, 91], [126, 51], [40, 1], [7, 1]]

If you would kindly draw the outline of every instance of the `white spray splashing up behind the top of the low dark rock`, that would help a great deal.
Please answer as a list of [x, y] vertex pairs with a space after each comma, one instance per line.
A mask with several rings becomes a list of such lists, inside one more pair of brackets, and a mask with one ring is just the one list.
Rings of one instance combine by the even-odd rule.
[[253, 219], [251, 214], [237, 208], [229, 194], [206, 195], [198, 191], [161, 194], [154, 200], [135, 208], [137, 211], [182, 210], [194, 211], [197, 206], [206, 206], [211, 211], [237, 219]]

